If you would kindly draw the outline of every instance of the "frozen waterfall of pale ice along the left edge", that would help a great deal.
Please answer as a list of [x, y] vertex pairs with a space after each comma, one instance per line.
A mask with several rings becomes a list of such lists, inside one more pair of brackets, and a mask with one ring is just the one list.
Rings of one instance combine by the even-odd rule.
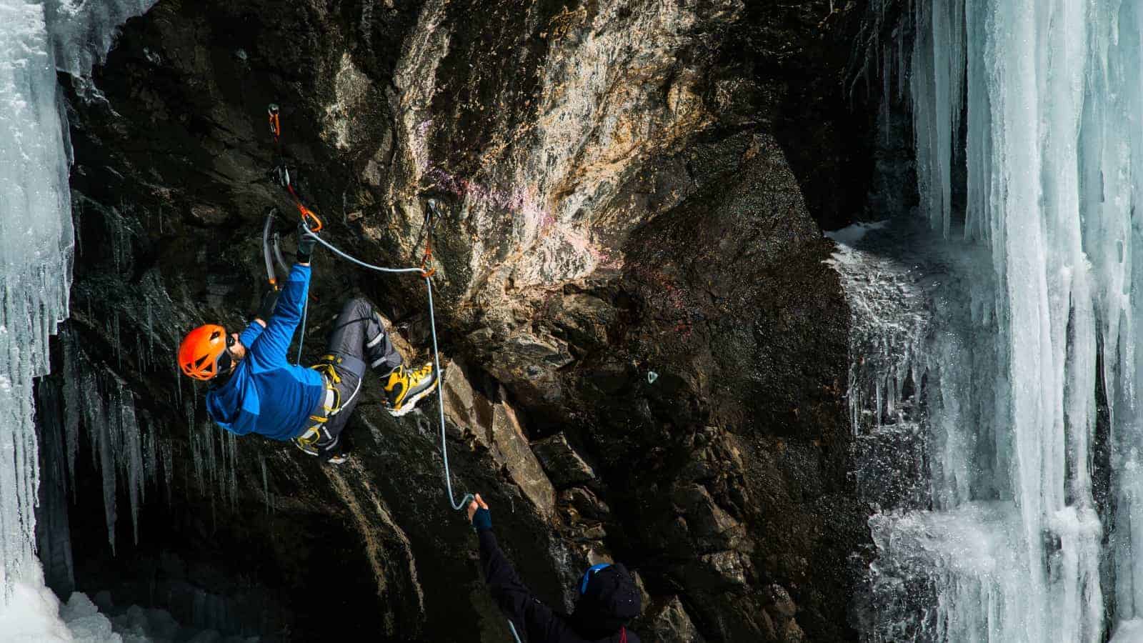
[[35, 559], [32, 379], [67, 315], [69, 149], [56, 70], [82, 74], [153, 0], [0, 0], [0, 630], [70, 640]]

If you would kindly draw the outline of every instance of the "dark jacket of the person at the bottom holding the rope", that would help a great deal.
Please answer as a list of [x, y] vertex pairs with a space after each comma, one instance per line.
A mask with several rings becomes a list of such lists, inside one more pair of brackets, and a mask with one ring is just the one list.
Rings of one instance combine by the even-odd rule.
[[[536, 598], [531, 592], [520, 581], [512, 569], [512, 564], [504, 557], [499, 546], [496, 545], [496, 537], [490, 529], [478, 530], [480, 535], [480, 563], [485, 572], [485, 581], [491, 593], [496, 604], [515, 625], [517, 632], [522, 641], [528, 643], [640, 643], [636, 633], [626, 629], [624, 624], [628, 618], [615, 616], [610, 604], [616, 600], [625, 598], [625, 594], [632, 594], [630, 601], [634, 605], [639, 604], [638, 592], [630, 582], [625, 571], [622, 575], [614, 572], [622, 569], [616, 565], [612, 572], [604, 574], [599, 579], [596, 592], [589, 592], [581, 596], [576, 603], [575, 611], [570, 614], [561, 614]], [[600, 575], [597, 574], [597, 575]], [[596, 580], [592, 581], [597, 582]], [[614, 585], [608, 586], [608, 582]]]

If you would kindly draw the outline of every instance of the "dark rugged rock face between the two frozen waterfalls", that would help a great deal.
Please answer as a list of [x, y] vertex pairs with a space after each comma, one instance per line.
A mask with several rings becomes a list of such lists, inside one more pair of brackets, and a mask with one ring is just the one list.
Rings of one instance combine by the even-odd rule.
[[[218, 429], [171, 356], [256, 305], [265, 209], [294, 212], [267, 180], [277, 102], [330, 241], [417, 265], [432, 235], [455, 492], [483, 494], [542, 598], [570, 608], [584, 566], [621, 559], [648, 641], [854, 638], [847, 558], [868, 530], [820, 224], [865, 191], [839, 134], [864, 119], [841, 84], [856, 8], [760, 5], [161, 0], [129, 23], [101, 93], [70, 102], [71, 332], [171, 453], [173, 499], [149, 494], [120, 558], [214, 594], [224, 578], [162, 556], [242, 575], [271, 638], [510, 640], [442, 499], [431, 404], [393, 420], [370, 380], [349, 465], [247, 437], [232, 491], [199, 482]], [[424, 357], [422, 281], [319, 252], [303, 362], [354, 294]], [[73, 533], [102, 517], [74, 511]], [[80, 588], [133, 586], [82, 548]]]

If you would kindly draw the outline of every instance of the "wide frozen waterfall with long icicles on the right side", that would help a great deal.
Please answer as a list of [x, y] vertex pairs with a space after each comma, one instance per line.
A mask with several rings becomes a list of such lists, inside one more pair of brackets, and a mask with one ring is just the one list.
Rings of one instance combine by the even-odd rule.
[[[865, 637], [1138, 640], [1143, 6], [917, 0], [895, 33], [871, 59], [903, 62], [920, 216], [943, 246], [926, 260], [946, 272], [920, 294], [924, 341], [898, 348], [925, 382], [930, 471], [924, 501], [871, 519]], [[844, 249], [844, 275], [919, 252], [871, 243]], [[863, 391], [893, 378], [858, 375], [855, 419], [880, 419]]]

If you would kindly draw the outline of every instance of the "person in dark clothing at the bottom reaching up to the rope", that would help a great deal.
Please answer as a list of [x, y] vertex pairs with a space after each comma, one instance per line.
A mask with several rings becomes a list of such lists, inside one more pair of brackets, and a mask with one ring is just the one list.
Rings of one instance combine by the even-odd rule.
[[[488, 505], [477, 494], [469, 521], [480, 537], [480, 566], [488, 590], [521, 638], [530, 643], [639, 643], [628, 622], [639, 616], [639, 589], [626, 567], [593, 565], [576, 584], [576, 604], [560, 614], [533, 596], [496, 545]], [[523, 636], [526, 635], [526, 637]]]

